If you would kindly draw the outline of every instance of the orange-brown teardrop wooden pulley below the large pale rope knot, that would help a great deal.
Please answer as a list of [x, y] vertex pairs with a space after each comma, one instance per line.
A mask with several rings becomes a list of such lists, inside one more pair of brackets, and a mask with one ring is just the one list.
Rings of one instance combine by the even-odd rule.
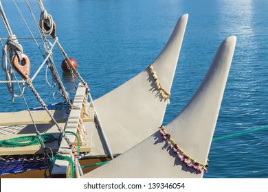
[[19, 57], [17, 55], [13, 56], [13, 65], [21, 77], [27, 80], [30, 77], [30, 60], [24, 53], [22, 53], [21, 56], [23, 58], [21, 62], [19, 62]]

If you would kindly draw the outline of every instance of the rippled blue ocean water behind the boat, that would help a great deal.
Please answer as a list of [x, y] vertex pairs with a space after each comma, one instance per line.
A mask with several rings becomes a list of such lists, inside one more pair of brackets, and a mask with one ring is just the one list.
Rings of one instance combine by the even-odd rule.
[[[22, 14], [32, 20], [24, 1], [16, 1]], [[36, 1], [29, 1], [38, 17]], [[237, 36], [236, 49], [214, 137], [268, 125], [268, 1], [267, 0], [58, 0], [43, 1], [56, 21], [57, 35], [68, 56], [78, 61], [78, 71], [89, 83], [93, 99], [126, 82], [163, 49], [179, 16], [188, 13], [170, 105], [164, 124], [188, 103], [212, 62], [222, 40]], [[2, 2], [12, 31], [31, 37], [12, 1]], [[28, 23], [34, 30], [35, 23]], [[0, 37], [7, 37], [0, 24]], [[5, 43], [5, 40], [2, 40]], [[32, 73], [42, 62], [36, 44], [20, 42], [32, 60]], [[56, 56], [60, 71], [61, 59]], [[45, 69], [34, 84], [45, 102], [55, 103], [56, 90], [44, 88]], [[3, 77], [2, 71], [0, 72]], [[60, 73], [67, 90], [74, 86], [69, 75]], [[1, 78], [3, 80], [3, 78]], [[0, 84], [1, 111], [24, 110], [23, 99], [10, 102]], [[56, 94], [56, 97], [58, 94]], [[26, 89], [30, 107], [39, 106]], [[8, 105], [7, 105], [8, 102]], [[268, 130], [212, 141], [209, 169], [204, 178], [268, 178]]]

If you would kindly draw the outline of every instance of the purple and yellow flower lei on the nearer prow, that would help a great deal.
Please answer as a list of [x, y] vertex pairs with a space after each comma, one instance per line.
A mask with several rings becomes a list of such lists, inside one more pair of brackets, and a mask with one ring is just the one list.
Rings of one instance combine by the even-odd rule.
[[164, 125], [161, 125], [159, 127], [159, 132], [162, 136], [162, 139], [168, 142], [168, 146], [170, 146], [170, 149], [172, 149], [173, 152], [177, 154], [177, 156], [187, 167], [194, 169], [194, 171], [196, 171], [197, 173], [201, 173], [202, 169], [205, 171], [205, 173], [208, 172], [208, 162], [205, 165], [203, 165], [202, 163], [199, 163], [197, 160], [194, 160], [193, 158], [188, 156], [185, 152], [183, 152], [183, 150], [179, 148], [177, 143], [173, 141], [170, 134], [166, 132]]

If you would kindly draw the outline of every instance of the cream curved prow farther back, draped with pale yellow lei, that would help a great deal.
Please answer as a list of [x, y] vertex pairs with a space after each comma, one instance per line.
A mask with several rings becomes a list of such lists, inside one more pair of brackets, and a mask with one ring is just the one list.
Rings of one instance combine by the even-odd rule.
[[[161, 87], [170, 93], [188, 14], [181, 16], [166, 47], [151, 64]], [[128, 82], [94, 101], [113, 154], [122, 154], [155, 132], [162, 123], [167, 102], [161, 97], [153, 75], [146, 68]], [[118, 139], [120, 138], [120, 139]], [[96, 136], [89, 156], [105, 155]]]

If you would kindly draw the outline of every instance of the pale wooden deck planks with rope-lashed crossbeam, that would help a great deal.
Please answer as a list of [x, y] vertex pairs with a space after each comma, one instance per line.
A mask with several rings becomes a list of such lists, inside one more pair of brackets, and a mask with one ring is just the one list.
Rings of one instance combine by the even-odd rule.
[[[65, 132], [73, 132], [79, 136], [80, 152], [91, 152], [93, 131], [96, 130], [94, 123], [94, 109], [87, 101], [86, 87], [79, 84], [73, 101], [73, 108], [67, 113], [66, 110], [49, 110], [56, 119], [60, 128]], [[58, 143], [60, 132], [45, 110], [3, 112], [0, 113], [0, 140], [13, 139], [20, 136], [36, 135], [38, 132], [50, 133], [55, 137], [52, 143], [45, 143], [52, 151], [71, 157], [71, 149], [65, 139]], [[32, 121], [34, 119], [34, 123]], [[66, 134], [71, 143], [78, 142], [74, 134]], [[0, 147], [0, 156], [27, 154], [43, 154], [41, 145], [25, 147]], [[65, 177], [69, 163], [65, 160], [56, 160], [52, 170], [52, 177]]]

